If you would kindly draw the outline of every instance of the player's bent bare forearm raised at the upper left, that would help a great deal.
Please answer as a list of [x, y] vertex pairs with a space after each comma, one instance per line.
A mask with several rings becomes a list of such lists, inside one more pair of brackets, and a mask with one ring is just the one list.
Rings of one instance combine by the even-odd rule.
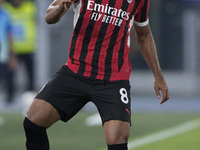
[[45, 20], [48, 24], [55, 24], [60, 21], [67, 12], [74, 0], [54, 0], [48, 7]]

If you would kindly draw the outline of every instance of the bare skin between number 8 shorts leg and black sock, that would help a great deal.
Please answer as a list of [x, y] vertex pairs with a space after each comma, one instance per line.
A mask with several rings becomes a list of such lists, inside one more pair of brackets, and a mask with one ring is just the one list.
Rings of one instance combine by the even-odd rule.
[[127, 143], [130, 134], [130, 123], [110, 120], [104, 123], [104, 135], [108, 145]]

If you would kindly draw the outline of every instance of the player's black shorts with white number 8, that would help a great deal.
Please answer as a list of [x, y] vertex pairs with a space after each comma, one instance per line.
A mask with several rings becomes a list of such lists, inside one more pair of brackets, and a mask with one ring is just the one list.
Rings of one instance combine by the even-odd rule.
[[36, 96], [49, 102], [66, 122], [86, 103], [93, 102], [102, 119], [131, 123], [130, 84], [127, 80], [102, 81], [74, 74], [63, 66]]

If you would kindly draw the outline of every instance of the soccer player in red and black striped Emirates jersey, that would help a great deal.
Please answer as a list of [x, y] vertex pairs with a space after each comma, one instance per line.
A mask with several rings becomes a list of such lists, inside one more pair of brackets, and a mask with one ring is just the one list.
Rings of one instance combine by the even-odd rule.
[[54, 24], [74, 4], [67, 63], [37, 94], [24, 120], [28, 150], [48, 150], [46, 129], [67, 122], [88, 101], [101, 116], [108, 150], [127, 150], [130, 132], [129, 32], [135, 29], [151, 68], [160, 103], [169, 99], [149, 27], [149, 0], [54, 0], [46, 22]]

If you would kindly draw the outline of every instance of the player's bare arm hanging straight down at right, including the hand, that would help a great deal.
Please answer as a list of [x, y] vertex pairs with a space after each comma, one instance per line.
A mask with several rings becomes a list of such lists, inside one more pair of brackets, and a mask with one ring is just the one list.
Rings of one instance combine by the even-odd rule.
[[134, 24], [134, 29], [141, 53], [154, 74], [154, 89], [158, 98], [160, 98], [160, 90], [162, 92], [162, 100], [160, 102], [160, 104], [162, 104], [169, 99], [169, 92], [159, 65], [156, 45], [150, 26], [146, 25], [144, 27], [140, 27]]

